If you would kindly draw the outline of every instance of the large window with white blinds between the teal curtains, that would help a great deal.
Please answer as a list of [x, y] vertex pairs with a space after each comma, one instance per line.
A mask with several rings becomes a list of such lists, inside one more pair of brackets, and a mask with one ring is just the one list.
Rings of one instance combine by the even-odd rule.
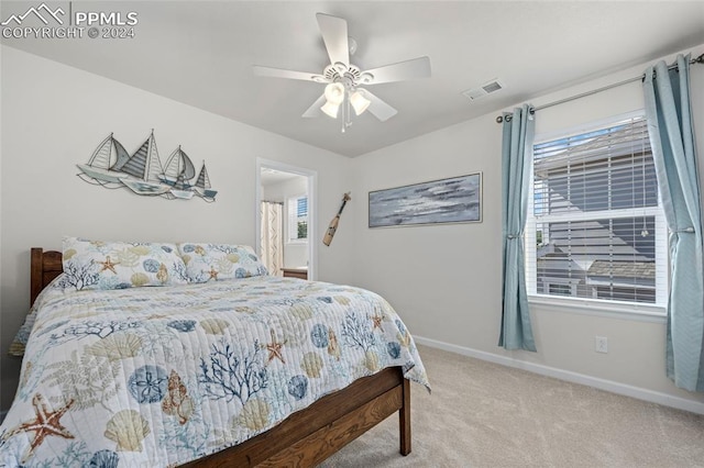
[[667, 227], [646, 120], [535, 144], [529, 294], [667, 303]]

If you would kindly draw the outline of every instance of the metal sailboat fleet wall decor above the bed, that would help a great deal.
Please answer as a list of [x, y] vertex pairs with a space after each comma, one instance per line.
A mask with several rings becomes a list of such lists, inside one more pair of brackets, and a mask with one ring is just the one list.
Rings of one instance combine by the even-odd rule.
[[154, 130], [132, 155], [111, 133], [94, 151], [88, 164], [76, 166], [80, 169], [78, 177], [88, 183], [108, 189], [128, 188], [140, 196], [169, 200], [196, 197], [213, 202], [218, 193], [210, 187], [206, 161], [196, 177], [194, 163], [180, 145], [162, 166]]

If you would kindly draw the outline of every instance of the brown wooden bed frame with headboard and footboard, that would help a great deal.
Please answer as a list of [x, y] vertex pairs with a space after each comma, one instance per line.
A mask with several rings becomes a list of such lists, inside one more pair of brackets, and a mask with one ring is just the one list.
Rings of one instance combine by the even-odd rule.
[[[62, 253], [32, 248], [31, 304], [62, 269]], [[410, 453], [410, 383], [400, 367], [352, 382], [242, 444], [185, 467], [253, 467], [320, 464], [398, 411], [400, 454]]]

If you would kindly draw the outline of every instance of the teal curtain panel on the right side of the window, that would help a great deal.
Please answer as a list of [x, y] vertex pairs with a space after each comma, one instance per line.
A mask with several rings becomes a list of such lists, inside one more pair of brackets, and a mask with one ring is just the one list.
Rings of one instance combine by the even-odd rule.
[[690, 56], [646, 70], [646, 115], [660, 197], [670, 229], [667, 372], [675, 386], [704, 391], [702, 207], [690, 102]]

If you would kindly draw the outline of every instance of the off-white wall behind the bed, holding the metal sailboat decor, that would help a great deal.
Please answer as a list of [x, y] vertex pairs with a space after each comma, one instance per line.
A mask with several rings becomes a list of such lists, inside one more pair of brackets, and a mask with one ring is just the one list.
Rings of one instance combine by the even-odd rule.
[[[322, 219], [350, 190], [350, 159], [337, 154], [11, 47], [1, 54], [1, 409], [19, 376], [7, 350], [29, 308], [31, 247], [61, 249], [63, 235], [254, 245], [256, 157], [315, 169]], [[132, 152], [151, 129], [163, 161], [179, 144], [197, 165], [207, 161], [215, 203], [139, 197], [76, 177], [76, 164], [110, 132]], [[348, 281], [340, 265], [352, 248], [353, 237], [340, 233], [336, 248], [318, 255], [318, 278]]]

